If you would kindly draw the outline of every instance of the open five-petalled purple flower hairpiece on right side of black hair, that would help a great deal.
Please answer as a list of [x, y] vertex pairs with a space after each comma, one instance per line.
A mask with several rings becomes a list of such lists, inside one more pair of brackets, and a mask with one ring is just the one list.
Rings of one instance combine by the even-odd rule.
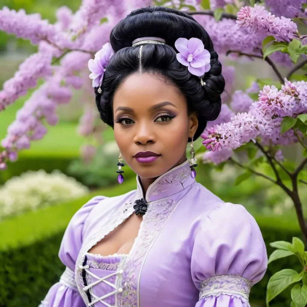
[[204, 43], [196, 37], [192, 37], [189, 40], [180, 37], [175, 41], [175, 47], [179, 51], [177, 53], [178, 62], [187, 66], [192, 75], [200, 77], [201, 85], [206, 85], [201, 77], [211, 68], [211, 56], [210, 52], [204, 49]]

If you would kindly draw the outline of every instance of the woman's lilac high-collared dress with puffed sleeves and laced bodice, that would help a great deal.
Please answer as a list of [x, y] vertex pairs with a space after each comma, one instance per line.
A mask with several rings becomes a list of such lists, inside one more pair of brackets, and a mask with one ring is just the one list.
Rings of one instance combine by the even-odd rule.
[[224, 203], [190, 176], [188, 161], [146, 192], [148, 209], [129, 254], [90, 248], [134, 214], [137, 189], [96, 196], [68, 224], [59, 257], [66, 265], [44, 307], [248, 307], [251, 287], [267, 267], [255, 219]]

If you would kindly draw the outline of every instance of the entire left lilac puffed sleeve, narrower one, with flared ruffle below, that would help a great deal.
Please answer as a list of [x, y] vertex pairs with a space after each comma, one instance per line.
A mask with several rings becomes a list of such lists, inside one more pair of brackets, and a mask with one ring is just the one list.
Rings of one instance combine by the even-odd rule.
[[39, 307], [85, 307], [75, 282], [75, 265], [82, 245], [82, 233], [87, 216], [104, 196], [95, 196], [84, 204], [72, 217], [65, 230], [59, 258], [66, 266], [60, 281], [48, 291]]

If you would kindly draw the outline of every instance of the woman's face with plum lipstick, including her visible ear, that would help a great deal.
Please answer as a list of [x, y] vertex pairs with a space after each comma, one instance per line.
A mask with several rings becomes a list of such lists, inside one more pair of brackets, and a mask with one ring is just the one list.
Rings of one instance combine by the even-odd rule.
[[159, 177], [183, 163], [198, 125], [176, 87], [151, 73], [127, 77], [115, 92], [113, 116], [119, 150], [141, 178]]

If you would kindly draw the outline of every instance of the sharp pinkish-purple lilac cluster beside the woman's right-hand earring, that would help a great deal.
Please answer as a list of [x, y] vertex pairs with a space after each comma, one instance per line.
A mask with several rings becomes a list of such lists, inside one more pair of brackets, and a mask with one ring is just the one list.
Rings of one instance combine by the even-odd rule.
[[296, 117], [307, 112], [306, 82], [291, 83], [285, 79], [280, 90], [274, 85], [264, 86], [259, 100], [248, 112], [238, 113], [231, 121], [206, 128], [202, 138], [208, 150], [236, 149], [246, 142], [261, 138], [271, 145], [289, 145], [297, 142], [293, 131], [280, 136], [280, 123], [285, 116]]

